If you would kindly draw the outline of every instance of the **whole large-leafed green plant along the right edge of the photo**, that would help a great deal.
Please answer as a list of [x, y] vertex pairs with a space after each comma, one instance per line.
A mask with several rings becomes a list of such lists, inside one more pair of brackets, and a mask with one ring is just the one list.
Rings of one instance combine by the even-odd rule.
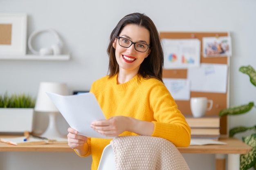
[[[239, 71], [249, 75], [250, 82], [254, 86], [256, 86], [256, 71], [254, 70], [254, 68], [252, 66], [250, 66], [250, 65], [241, 66], [239, 68]], [[222, 117], [225, 115], [244, 114], [244, 113], [247, 113], [248, 111], [250, 111], [253, 107], [256, 107], [254, 102], [249, 102], [249, 104], [243, 104], [240, 106], [226, 108], [226, 109], [220, 110], [219, 116]], [[235, 134], [240, 133], [240, 132], [245, 132], [247, 130], [256, 131], [256, 125], [234, 127], [229, 130], [229, 137], [234, 137]], [[242, 137], [242, 140], [247, 145], [251, 146], [252, 150], [248, 154], [240, 155], [240, 170], [248, 170], [249, 168], [252, 168], [252, 167], [254, 167], [254, 169], [256, 170], [256, 132], [254, 132], [251, 135], [248, 135], [246, 137]]]

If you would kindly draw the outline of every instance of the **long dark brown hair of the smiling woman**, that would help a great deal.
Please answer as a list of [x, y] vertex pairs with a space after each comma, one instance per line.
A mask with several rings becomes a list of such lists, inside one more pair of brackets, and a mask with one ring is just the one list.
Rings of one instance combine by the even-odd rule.
[[115, 29], [110, 34], [110, 43], [108, 45], [108, 56], [109, 56], [109, 77], [114, 76], [119, 72], [117, 60], [115, 58], [115, 49], [112, 46], [115, 38], [122, 31], [124, 26], [128, 24], [136, 24], [143, 26], [150, 32], [150, 54], [144, 59], [139, 67], [138, 75], [144, 78], [156, 78], [162, 81], [162, 69], [164, 64], [164, 53], [161, 46], [161, 40], [159, 33], [155, 27], [153, 21], [142, 13], [131, 13], [122, 18]]

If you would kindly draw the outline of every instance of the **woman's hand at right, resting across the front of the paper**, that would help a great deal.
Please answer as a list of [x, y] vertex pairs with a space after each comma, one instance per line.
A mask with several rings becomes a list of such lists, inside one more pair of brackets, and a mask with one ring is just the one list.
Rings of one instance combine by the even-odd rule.
[[115, 137], [129, 129], [129, 117], [115, 116], [108, 120], [93, 121], [91, 128], [101, 135]]

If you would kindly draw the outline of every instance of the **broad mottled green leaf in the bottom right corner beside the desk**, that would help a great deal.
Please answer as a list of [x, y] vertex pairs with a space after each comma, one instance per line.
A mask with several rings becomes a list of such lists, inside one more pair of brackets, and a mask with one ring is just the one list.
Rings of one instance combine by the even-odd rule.
[[240, 155], [240, 170], [248, 170], [256, 163], [256, 134], [243, 137], [243, 141], [251, 146], [252, 150], [247, 154]]

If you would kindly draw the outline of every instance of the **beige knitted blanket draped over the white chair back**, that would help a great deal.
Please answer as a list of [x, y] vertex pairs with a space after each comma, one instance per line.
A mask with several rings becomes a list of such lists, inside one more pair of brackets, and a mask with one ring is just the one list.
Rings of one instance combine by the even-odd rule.
[[189, 170], [176, 146], [160, 137], [121, 136], [110, 144], [116, 170]]

